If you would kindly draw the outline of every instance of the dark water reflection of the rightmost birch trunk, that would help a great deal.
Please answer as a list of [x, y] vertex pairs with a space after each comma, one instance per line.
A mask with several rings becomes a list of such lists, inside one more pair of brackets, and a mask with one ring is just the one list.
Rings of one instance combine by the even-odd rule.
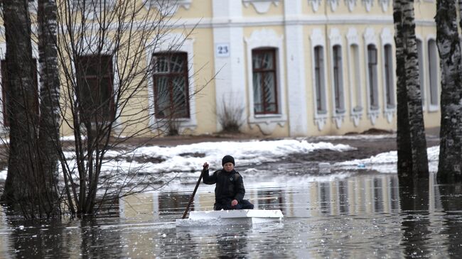
[[439, 185], [441, 204], [446, 212], [444, 231], [446, 246], [450, 258], [461, 258], [462, 255], [462, 184]]

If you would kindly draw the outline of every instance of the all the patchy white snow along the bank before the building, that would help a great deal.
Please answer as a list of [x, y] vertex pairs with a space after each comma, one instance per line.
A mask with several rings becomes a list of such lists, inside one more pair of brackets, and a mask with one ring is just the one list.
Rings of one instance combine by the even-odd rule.
[[[319, 141], [319, 139], [323, 141]], [[284, 162], [291, 157], [307, 155], [317, 152], [330, 153], [358, 153], [360, 150], [350, 145], [341, 144], [342, 140], [351, 141], [364, 140], [385, 140], [394, 141], [393, 135], [356, 135], [356, 136], [324, 136], [318, 141], [311, 139], [287, 139], [287, 140], [247, 140], [247, 141], [222, 141], [203, 142], [190, 145], [176, 146], [146, 146], [137, 148], [126, 153], [124, 151], [110, 151], [107, 153], [107, 160], [104, 162], [103, 170], [107, 173], [137, 172], [140, 175], [181, 175], [183, 180], [190, 178], [194, 181], [198, 176], [203, 162], [210, 164], [211, 170], [221, 167], [221, 158], [224, 155], [233, 155], [236, 166], [245, 175], [250, 177], [258, 175], [264, 165], [271, 163], [277, 167], [278, 162]], [[348, 140], [348, 141], [346, 141]], [[335, 141], [334, 143], [331, 143]], [[65, 154], [72, 164], [73, 154]], [[429, 166], [432, 172], [436, 172], [439, 146], [428, 148]], [[303, 157], [302, 157], [303, 158]], [[303, 161], [302, 161], [303, 162]], [[311, 161], [311, 167], [318, 163]], [[375, 171], [380, 173], [395, 173], [397, 152], [390, 151], [379, 153], [370, 158], [343, 160], [340, 162], [323, 162], [321, 169], [327, 172], [335, 172], [330, 175], [316, 175], [312, 180], [329, 180], [332, 177], [345, 177], [358, 172], [359, 170]], [[294, 162], [293, 162], [294, 163]], [[271, 167], [271, 166], [269, 166]], [[278, 168], [276, 168], [278, 170]], [[6, 179], [6, 169], [0, 172], [0, 179]], [[183, 182], [184, 183], [184, 182]]]

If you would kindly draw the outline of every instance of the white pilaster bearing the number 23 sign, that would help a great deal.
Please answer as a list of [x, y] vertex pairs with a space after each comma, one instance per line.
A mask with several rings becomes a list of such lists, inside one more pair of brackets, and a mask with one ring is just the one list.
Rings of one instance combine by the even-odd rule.
[[[244, 32], [233, 22], [242, 20], [242, 1], [213, 0], [215, 100], [217, 112], [245, 108]], [[247, 118], [246, 109], [242, 120]], [[217, 123], [217, 131], [222, 128]]]

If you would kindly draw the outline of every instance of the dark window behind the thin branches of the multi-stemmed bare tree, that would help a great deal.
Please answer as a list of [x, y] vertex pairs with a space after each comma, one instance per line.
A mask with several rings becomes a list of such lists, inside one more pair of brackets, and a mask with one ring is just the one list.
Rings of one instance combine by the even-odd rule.
[[85, 55], [77, 60], [80, 113], [85, 121], [114, 119], [112, 56]]

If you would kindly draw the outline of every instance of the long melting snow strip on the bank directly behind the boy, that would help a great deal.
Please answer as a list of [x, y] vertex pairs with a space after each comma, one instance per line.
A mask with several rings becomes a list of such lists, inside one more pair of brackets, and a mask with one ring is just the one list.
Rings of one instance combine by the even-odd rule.
[[[293, 153], [310, 153], [313, 150], [321, 149], [339, 152], [355, 150], [350, 145], [333, 145], [326, 142], [308, 143], [306, 140], [254, 140], [247, 142], [205, 142], [173, 147], [150, 146], [137, 148], [130, 153], [109, 151], [107, 153], [109, 160], [104, 163], [103, 170], [136, 168], [139, 172], [149, 174], [198, 172], [206, 161], [210, 164], [210, 170], [221, 168], [221, 159], [224, 155], [232, 155], [236, 165], [242, 167], [263, 162], [276, 162]], [[70, 156], [72, 153], [68, 155]]]

